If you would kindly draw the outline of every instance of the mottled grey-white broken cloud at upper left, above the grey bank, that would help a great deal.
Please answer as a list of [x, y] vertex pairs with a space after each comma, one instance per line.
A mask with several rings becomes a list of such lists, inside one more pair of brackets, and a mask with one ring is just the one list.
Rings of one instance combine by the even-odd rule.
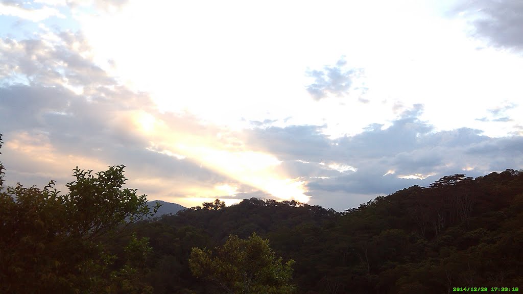
[[0, 59], [4, 64], [0, 78], [24, 76], [31, 84], [59, 84], [77, 93], [85, 91], [87, 95], [101, 87], [117, 85], [114, 78], [94, 64], [81, 33], [47, 32], [46, 36], [49, 40], [0, 39], [3, 50]]

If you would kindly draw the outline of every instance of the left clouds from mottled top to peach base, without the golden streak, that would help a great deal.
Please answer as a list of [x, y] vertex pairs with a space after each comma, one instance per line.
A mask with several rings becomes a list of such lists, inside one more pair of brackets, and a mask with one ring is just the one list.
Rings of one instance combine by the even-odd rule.
[[[6, 184], [42, 186], [55, 179], [63, 190], [75, 166], [101, 171], [125, 164], [128, 185], [187, 206], [191, 197], [220, 195], [219, 183], [235, 183], [194, 157], [157, 152], [165, 146], [151, 142], [156, 141], [151, 132], [162, 123], [183, 126], [169, 133], [180, 142], [184, 133], [209, 137], [219, 128], [202, 126], [187, 115], [160, 114], [148, 95], [130, 91], [95, 65], [81, 35], [54, 37], [0, 39], [0, 64], [6, 65], [0, 77]], [[13, 76], [28, 82], [10, 82]], [[82, 91], [75, 92], [77, 87]], [[152, 129], [141, 119], [147, 115], [153, 118]]]

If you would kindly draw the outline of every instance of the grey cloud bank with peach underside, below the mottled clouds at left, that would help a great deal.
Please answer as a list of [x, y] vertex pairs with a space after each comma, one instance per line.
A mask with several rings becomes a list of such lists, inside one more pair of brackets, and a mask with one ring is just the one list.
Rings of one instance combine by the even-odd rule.
[[[0, 87], [0, 116], [7, 122], [1, 130], [7, 183], [14, 184], [16, 178], [22, 183], [42, 185], [56, 179], [64, 184], [75, 166], [100, 171], [118, 164], [128, 166], [129, 185], [160, 198], [209, 195], [216, 183], [231, 181], [195, 159], [147, 150], [150, 142], [133, 125], [134, 110], [120, 108], [124, 103], [146, 108], [147, 97], [132, 97], [121, 88], [113, 95], [105, 101], [88, 101], [59, 86]], [[133, 98], [137, 104], [131, 106]], [[179, 120], [189, 129], [197, 125], [188, 118]]]

